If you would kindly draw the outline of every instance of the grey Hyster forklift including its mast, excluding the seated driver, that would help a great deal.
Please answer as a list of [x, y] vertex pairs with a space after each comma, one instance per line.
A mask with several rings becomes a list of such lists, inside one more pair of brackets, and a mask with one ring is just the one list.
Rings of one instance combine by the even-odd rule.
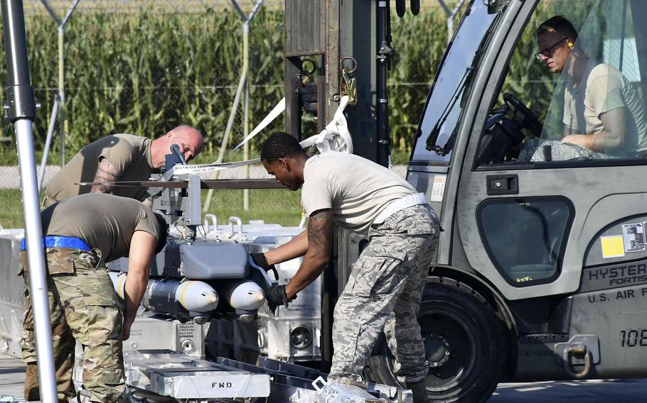
[[[296, 7], [300, 1], [286, 0], [286, 131], [300, 137], [308, 113], [323, 124], [354, 88], [357, 104], [346, 114], [355, 153], [387, 166], [383, 74], [397, 62], [390, 40], [397, 47], [416, 39], [390, 38], [388, 1], [309, 1], [307, 9]], [[405, 12], [405, 1], [396, 6]], [[464, 7], [407, 168], [444, 230], [419, 314], [429, 399], [484, 402], [503, 381], [646, 377], [647, 160], [638, 149], [553, 156], [551, 144], [576, 147], [560, 145], [572, 78], [535, 56], [542, 22], [563, 16], [577, 30], [574, 46], [619, 72], [644, 115], [647, 4], [473, 0]], [[308, 82], [304, 60], [317, 66]], [[602, 87], [611, 99], [612, 85]], [[521, 158], [532, 145], [540, 145], [533, 158]], [[337, 231], [324, 330], [367, 242]], [[330, 347], [322, 341], [324, 363]], [[380, 343], [365, 376], [397, 385], [393, 363]]]

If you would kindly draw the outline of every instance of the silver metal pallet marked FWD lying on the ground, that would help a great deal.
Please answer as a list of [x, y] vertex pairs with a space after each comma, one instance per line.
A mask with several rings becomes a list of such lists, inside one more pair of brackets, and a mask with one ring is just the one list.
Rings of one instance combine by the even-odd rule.
[[[270, 358], [259, 358], [258, 365], [251, 365], [230, 358], [201, 360], [178, 352], [128, 351], [124, 362], [126, 384], [139, 401], [324, 402], [314, 382], [325, 385], [326, 374]], [[352, 402], [412, 401], [409, 390], [373, 382], [344, 389]]]

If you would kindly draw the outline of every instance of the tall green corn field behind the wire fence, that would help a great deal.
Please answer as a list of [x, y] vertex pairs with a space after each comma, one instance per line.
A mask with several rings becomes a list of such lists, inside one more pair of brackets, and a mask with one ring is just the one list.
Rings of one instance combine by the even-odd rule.
[[[56, 11], [63, 16], [70, 2], [58, 3]], [[66, 159], [109, 133], [155, 137], [182, 123], [205, 134], [205, 155], [213, 155], [240, 77], [242, 23], [237, 13], [227, 4], [205, 6], [207, 1], [187, 1], [185, 8], [182, 1], [125, 2], [139, 4], [136, 9], [108, 6], [123, 1], [106, 1], [103, 9], [97, 3], [103, 2], [82, 0], [65, 26]], [[410, 149], [446, 46], [444, 18], [436, 8], [424, 9], [416, 18], [410, 13], [402, 20], [395, 13], [392, 17], [398, 51], [389, 82], [395, 148]], [[36, 147], [42, 148], [58, 92], [57, 31], [42, 4], [34, 1], [26, 2], [26, 29], [31, 81], [43, 105], [34, 130]], [[283, 38], [282, 10], [262, 8], [250, 26], [252, 125], [283, 96]], [[4, 49], [0, 53], [4, 57]], [[4, 64], [0, 79], [6, 82]], [[231, 143], [242, 138], [239, 115]], [[280, 128], [279, 119], [267, 130]], [[3, 146], [14, 147], [11, 142]], [[57, 147], [55, 138], [53, 159]]]

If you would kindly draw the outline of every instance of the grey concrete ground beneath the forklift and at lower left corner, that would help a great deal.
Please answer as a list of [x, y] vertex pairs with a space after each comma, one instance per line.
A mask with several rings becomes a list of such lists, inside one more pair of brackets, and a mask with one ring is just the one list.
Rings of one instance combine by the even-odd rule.
[[[18, 358], [0, 354], [0, 400], [23, 397], [24, 368]], [[642, 403], [646, 395], [647, 379], [502, 383], [488, 403]]]

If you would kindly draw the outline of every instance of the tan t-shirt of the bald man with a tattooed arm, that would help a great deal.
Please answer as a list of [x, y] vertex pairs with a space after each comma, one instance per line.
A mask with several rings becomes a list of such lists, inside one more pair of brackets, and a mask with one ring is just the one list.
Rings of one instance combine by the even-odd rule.
[[[148, 180], [153, 170], [151, 161], [151, 139], [132, 134], [113, 134], [100, 138], [82, 148], [48, 182], [45, 189], [47, 207], [68, 197], [89, 193], [90, 186], [79, 186], [79, 182], [92, 182], [97, 175], [100, 160], [107, 158], [119, 172], [119, 180]], [[144, 199], [146, 189], [142, 187], [114, 187], [112, 194], [132, 199]]]

